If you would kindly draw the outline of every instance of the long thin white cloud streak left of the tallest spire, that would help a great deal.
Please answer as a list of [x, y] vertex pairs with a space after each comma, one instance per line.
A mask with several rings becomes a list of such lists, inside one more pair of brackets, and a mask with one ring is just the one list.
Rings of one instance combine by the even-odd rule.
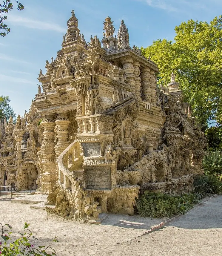
[[21, 16], [10, 16], [8, 22], [13, 22], [14, 25], [29, 27], [33, 29], [41, 29], [41, 30], [53, 30], [56, 32], [65, 32], [66, 28], [63, 28], [55, 23], [42, 22], [39, 20], [33, 20]]

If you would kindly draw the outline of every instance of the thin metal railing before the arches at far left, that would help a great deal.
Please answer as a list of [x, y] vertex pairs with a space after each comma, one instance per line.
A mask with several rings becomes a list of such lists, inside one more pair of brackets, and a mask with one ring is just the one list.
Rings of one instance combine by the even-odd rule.
[[[5, 196], [7, 197], [7, 195], [11, 195], [11, 198], [13, 195], [16, 195], [16, 197], [18, 197], [18, 193], [21, 195], [21, 193], [23, 192], [23, 195], [25, 194], [25, 191], [30, 191], [30, 193], [32, 193], [32, 189], [33, 186], [37, 187], [37, 184], [33, 184], [33, 185], [27, 185], [27, 186], [0, 186], [0, 197]], [[9, 190], [11, 189], [11, 190]]]

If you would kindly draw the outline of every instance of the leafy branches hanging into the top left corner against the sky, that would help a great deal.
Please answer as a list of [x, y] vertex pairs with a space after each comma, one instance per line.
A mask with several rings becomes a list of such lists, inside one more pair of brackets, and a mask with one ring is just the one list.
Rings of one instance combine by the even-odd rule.
[[[15, 0], [17, 2], [17, 10], [21, 11], [24, 9], [24, 6], [18, 2], [18, 0]], [[4, 14], [8, 13], [10, 10], [13, 8], [13, 3], [11, 0], [5, 0], [1, 1], [0, 0], [0, 35], [1, 36], [6, 36], [6, 33], [10, 32], [10, 28], [4, 24], [5, 20], [7, 20], [7, 16], [3, 16]], [[5, 30], [5, 32], [4, 32]]]

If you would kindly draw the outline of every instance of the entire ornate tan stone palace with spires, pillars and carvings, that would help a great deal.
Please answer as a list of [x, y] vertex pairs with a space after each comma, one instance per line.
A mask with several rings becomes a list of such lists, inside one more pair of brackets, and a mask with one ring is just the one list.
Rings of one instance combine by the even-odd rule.
[[175, 75], [160, 90], [124, 21], [118, 38], [110, 17], [103, 24], [101, 42], [87, 43], [72, 10], [30, 112], [0, 127], [1, 185], [38, 186], [48, 213], [94, 223], [133, 214], [139, 190], [192, 186], [206, 147]]

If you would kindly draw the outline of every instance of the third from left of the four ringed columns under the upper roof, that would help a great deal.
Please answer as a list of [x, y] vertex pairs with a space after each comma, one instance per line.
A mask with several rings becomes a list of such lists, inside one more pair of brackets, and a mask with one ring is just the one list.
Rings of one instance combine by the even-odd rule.
[[142, 99], [147, 102], [151, 102], [151, 89], [150, 89], [150, 69], [143, 68], [141, 70], [141, 88], [142, 88]]

